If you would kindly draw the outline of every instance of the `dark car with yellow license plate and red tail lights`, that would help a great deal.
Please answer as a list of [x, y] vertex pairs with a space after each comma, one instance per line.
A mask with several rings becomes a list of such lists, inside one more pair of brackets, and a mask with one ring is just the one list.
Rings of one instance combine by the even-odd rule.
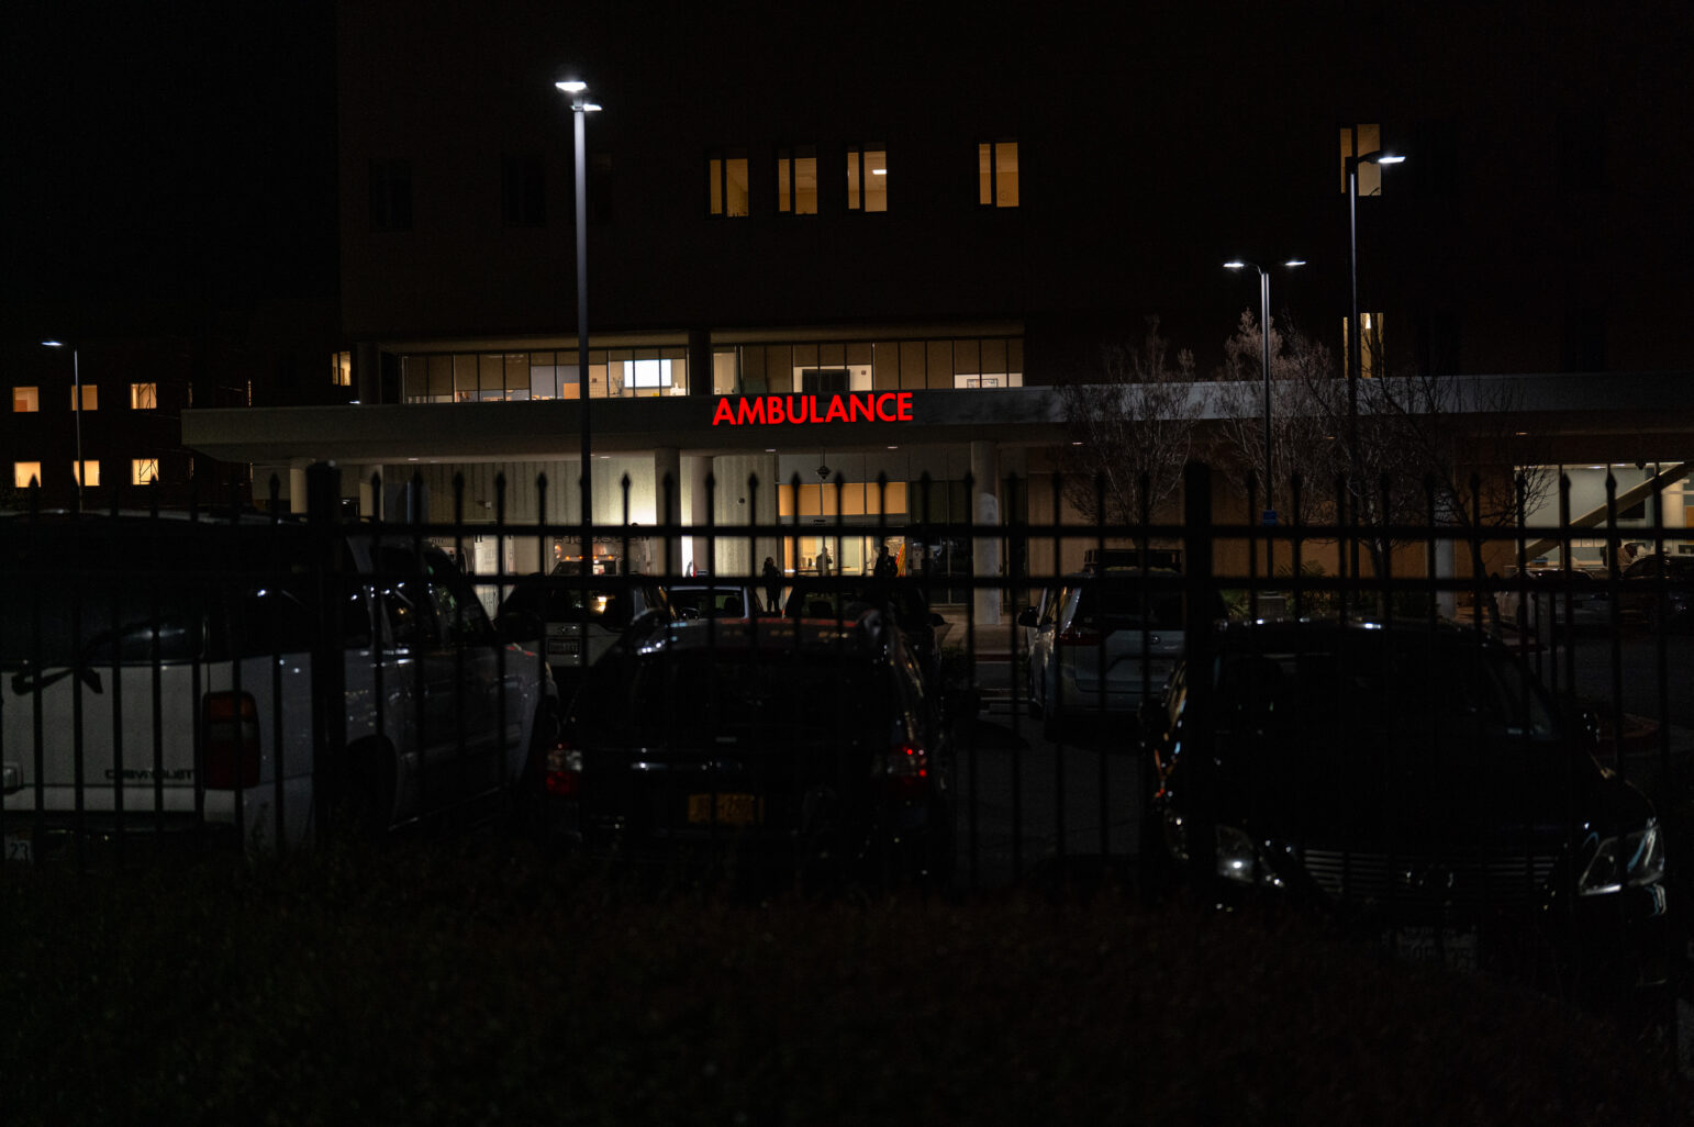
[[596, 858], [945, 881], [949, 758], [877, 612], [656, 622], [590, 669], [545, 788], [556, 830]]

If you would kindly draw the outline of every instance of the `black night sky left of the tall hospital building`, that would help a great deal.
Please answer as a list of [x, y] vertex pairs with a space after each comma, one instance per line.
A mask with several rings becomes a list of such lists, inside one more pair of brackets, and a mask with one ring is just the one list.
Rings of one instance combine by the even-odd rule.
[[334, 293], [327, 2], [14, 0], [0, 41], [8, 320]]

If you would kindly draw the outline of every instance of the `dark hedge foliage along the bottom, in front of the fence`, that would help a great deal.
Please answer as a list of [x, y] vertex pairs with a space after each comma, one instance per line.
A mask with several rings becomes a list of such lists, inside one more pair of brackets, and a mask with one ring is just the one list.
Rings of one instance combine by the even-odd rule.
[[1657, 1124], [1614, 1029], [1279, 920], [481, 842], [0, 881], [10, 1124]]

